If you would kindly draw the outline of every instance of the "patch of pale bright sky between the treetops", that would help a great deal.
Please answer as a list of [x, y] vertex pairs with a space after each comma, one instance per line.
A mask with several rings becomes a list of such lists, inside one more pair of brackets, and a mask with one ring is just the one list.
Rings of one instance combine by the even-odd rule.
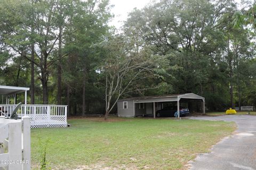
[[128, 13], [131, 12], [134, 7], [142, 9], [150, 2], [151, 0], [110, 0], [110, 4], [115, 5], [111, 10], [111, 12], [115, 14], [115, 18], [112, 19], [109, 25], [120, 28], [123, 25], [123, 21], [127, 19]]

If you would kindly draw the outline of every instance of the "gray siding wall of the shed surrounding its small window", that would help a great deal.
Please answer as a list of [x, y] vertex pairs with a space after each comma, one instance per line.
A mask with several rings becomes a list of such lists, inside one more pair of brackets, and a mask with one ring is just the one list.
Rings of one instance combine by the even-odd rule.
[[[127, 102], [127, 109], [124, 109], [123, 102]], [[118, 117], [134, 117], [133, 115], [133, 100], [118, 101], [117, 115]]]

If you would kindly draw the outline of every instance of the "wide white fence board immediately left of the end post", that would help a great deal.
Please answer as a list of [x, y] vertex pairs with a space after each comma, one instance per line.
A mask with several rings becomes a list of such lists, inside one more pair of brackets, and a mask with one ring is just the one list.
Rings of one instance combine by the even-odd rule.
[[9, 170], [22, 170], [21, 122], [9, 123]]

